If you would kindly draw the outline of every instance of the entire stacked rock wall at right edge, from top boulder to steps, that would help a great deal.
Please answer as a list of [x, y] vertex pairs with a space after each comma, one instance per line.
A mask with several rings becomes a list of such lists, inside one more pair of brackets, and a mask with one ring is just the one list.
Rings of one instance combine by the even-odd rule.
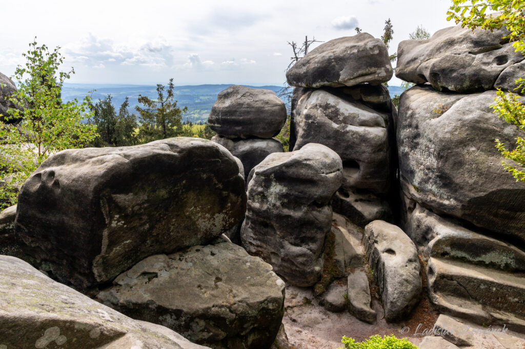
[[495, 88], [512, 90], [525, 74], [507, 34], [456, 26], [400, 43], [396, 75], [418, 85], [401, 95], [397, 146], [405, 231], [428, 260], [430, 299], [523, 330], [525, 183], [494, 142], [520, 132], [490, 107]]

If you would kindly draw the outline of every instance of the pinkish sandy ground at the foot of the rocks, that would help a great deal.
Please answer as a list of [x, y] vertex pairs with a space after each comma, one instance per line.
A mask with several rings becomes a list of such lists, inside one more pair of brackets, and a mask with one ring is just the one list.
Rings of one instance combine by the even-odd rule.
[[[438, 316], [424, 299], [406, 322], [388, 324], [382, 319], [384, 312], [377, 299], [373, 300], [373, 306], [377, 312], [377, 321], [375, 324], [368, 324], [347, 312], [331, 313], [325, 310], [314, 299], [311, 289], [288, 286], [286, 313], [282, 323], [290, 344], [297, 349], [337, 349], [342, 347], [343, 335], [362, 341], [373, 334], [394, 334], [397, 337], [406, 337], [418, 345], [424, 336], [421, 332], [426, 328], [432, 329]], [[419, 323], [422, 325], [416, 331]], [[472, 325], [472, 328], [483, 330], [477, 325]], [[406, 333], [402, 333], [402, 329]], [[525, 335], [512, 331], [508, 331], [507, 336], [501, 339], [506, 346], [492, 334], [476, 334], [474, 340], [474, 346], [464, 348], [525, 349]]]

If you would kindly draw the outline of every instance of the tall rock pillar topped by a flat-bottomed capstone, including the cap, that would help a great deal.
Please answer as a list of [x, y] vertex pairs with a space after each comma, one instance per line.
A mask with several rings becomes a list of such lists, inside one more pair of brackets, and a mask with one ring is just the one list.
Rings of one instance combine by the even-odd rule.
[[286, 74], [297, 87], [290, 148], [319, 143], [337, 152], [343, 184], [333, 209], [361, 227], [391, 217], [395, 107], [381, 83], [392, 74], [386, 46], [366, 33], [323, 43]]

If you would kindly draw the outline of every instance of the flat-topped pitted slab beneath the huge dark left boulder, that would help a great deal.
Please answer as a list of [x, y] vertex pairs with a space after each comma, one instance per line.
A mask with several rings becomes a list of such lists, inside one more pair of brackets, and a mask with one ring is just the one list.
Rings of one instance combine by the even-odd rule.
[[216, 348], [269, 347], [284, 312], [285, 283], [231, 243], [148, 257], [113, 283], [104, 304]]

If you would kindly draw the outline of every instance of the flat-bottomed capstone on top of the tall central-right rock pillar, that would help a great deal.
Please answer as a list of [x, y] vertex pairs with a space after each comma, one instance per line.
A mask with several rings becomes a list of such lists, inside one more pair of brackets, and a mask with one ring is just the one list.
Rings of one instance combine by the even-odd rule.
[[301, 58], [286, 72], [290, 86], [380, 84], [393, 70], [383, 41], [367, 33], [330, 40]]

